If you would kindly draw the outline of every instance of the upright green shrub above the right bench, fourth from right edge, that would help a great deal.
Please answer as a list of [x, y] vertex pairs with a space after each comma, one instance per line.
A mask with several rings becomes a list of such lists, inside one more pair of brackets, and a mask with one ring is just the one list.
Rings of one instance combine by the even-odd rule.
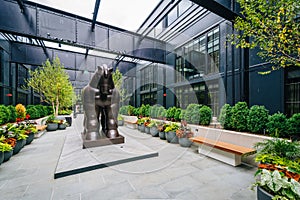
[[237, 131], [247, 131], [249, 108], [246, 102], [238, 102], [232, 107], [232, 126]]

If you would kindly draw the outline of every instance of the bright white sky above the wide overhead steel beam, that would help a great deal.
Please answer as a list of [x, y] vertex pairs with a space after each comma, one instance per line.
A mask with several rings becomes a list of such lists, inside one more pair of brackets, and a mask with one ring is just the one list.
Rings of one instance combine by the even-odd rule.
[[[92, 19], [96, 0], [31, 0]], [[101, 0], [97, 21], [136, 31], [160, 0]]]

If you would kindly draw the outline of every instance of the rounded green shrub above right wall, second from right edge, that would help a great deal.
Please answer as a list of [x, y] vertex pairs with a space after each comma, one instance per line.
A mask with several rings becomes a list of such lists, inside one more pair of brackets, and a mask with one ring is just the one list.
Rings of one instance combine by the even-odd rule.
[[269, 116], [267, 131], [275, 137], [287, 136], [287, 119], [283, 113], [275, 113]]

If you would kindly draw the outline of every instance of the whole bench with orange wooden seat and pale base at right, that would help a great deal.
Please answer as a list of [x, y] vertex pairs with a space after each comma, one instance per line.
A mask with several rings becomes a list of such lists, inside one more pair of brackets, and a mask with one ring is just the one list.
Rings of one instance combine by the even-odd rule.
[[243, 155], [255, 153], [255, 149], [247, 148], [222, 141], [215, 141], [205, 137], [193, 137], [191, 141], [197, 144], [200, 154], [212, 157], [227, 164], [238, 166], [242, 163]]

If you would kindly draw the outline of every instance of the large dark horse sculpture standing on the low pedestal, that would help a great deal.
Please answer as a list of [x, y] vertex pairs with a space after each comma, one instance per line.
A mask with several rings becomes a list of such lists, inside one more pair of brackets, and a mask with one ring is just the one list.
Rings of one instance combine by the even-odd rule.
[[120, 94], [115, 88], [112, 72], [112, 67], [98, 66], [90, 83], [83, 89], [84, 141], [119, 137], [117, 116]]

